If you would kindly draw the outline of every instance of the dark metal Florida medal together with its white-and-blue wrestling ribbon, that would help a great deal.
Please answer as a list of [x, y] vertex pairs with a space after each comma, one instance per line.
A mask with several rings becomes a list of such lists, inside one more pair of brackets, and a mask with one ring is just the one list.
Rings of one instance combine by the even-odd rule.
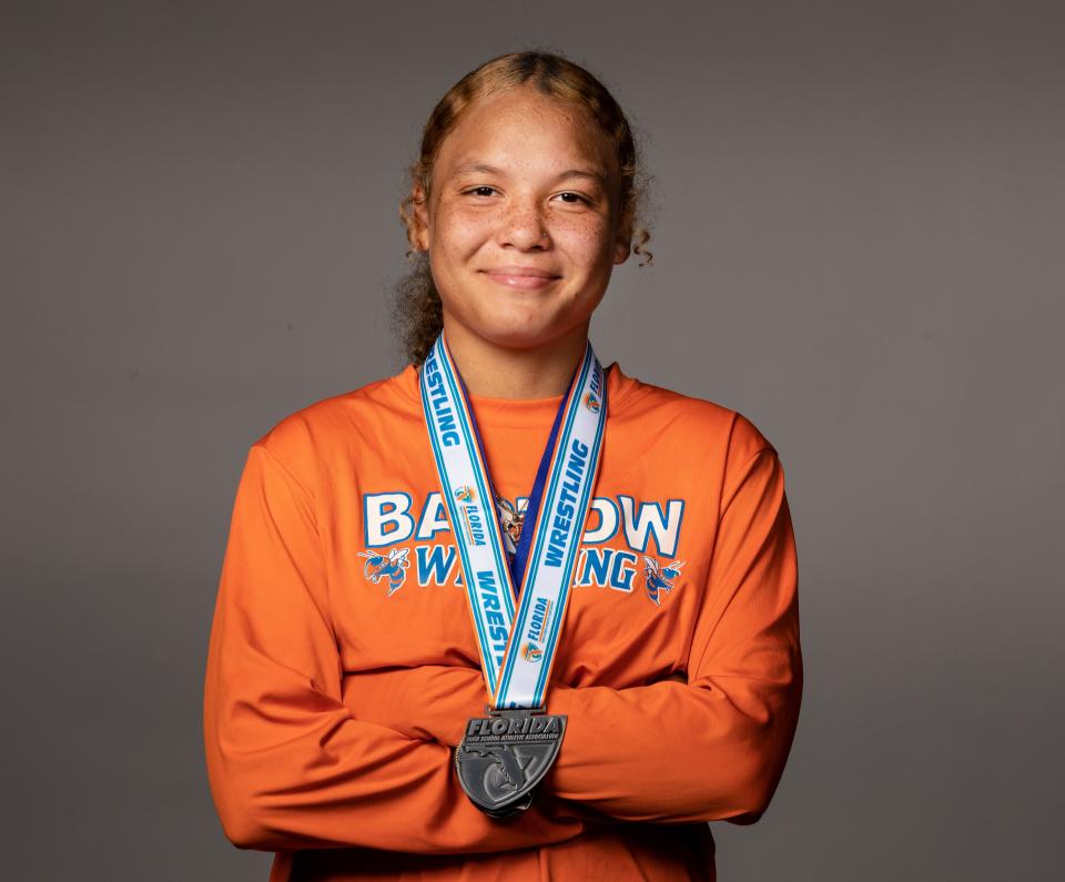
[[468, 722], [456, 767], [474, 803], [503, 817], [531, 803], [565, 733], [566, 718], [545, 713], [544, 697], [599, 472], [606, 383], [588, 343], [540, 458], [513, 570], [477, 423], [443, 335], [422, 366], [420, 388], [493, 697], [489, 716]]

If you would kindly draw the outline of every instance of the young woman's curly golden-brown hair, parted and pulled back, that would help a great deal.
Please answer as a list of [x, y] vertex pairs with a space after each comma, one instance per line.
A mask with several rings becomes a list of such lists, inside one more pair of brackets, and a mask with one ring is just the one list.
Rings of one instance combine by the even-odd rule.
[[582, 108], [613, 144], [620, 170], [621, 229], [633, 231], [631, 249], [642, 258], [640, 266], [653, 261], [645, 247], [651, 236], [640, 217], [647, 190], [640, 150], [618, 102], [591, 73], [560, 54], [529, 51], [498, 55], [463, 77], [437, 102], [425, 123], [418, 158], [407, 169], [407, 194], [399, 201], [399, 220], [410, 243], [406, 256], [414, 265], [395, 285], [393, 327], [412, 364], [425, 361], [444, 327], [443, 305], [428, 254], [419, 251], [415, 241], [414, 205], [428, 200], [440, 145], [470, 104], [486, 94], [525, 83]]

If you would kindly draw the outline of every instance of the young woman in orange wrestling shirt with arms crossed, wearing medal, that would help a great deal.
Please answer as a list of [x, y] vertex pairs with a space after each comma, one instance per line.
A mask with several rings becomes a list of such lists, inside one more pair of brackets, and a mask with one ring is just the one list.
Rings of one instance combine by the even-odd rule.
[[467, 74], [400, 206], [410, 364], [251, 447], [204, 727], [272, 882], [713, 879], [706, 822], [765, 811], [802, 679], [783, 473], [595, 356], [637, 173], [582, 68]]

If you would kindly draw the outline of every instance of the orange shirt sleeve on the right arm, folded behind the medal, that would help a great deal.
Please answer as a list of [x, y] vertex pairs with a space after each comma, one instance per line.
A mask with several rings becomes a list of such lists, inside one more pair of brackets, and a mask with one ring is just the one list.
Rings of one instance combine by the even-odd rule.
[[[688, 682], [552, 683], [550, 710], [568, 717], [548, 779], [558, 797], [627, 821], [752, 823], [768, 808], [802, 693], [795, 544], [775, 450], [759, 450], [728, 484]], [[359, 696], [375, 719], [457, 743], [484, 703], [479, 677], [385, 672]]]

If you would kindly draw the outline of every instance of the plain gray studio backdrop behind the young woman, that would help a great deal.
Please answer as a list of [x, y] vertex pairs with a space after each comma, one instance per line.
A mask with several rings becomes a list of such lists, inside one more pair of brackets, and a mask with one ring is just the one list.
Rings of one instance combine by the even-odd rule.
[[3, 3], [4, 878], [265, 880], [201, 741], [240, 468], [398, 369], [403, 166], [530, 45], [656, 179], [604, 361], [787, 472], [805, 696], [722, 882], [1059, 878], [1062, 9]]

